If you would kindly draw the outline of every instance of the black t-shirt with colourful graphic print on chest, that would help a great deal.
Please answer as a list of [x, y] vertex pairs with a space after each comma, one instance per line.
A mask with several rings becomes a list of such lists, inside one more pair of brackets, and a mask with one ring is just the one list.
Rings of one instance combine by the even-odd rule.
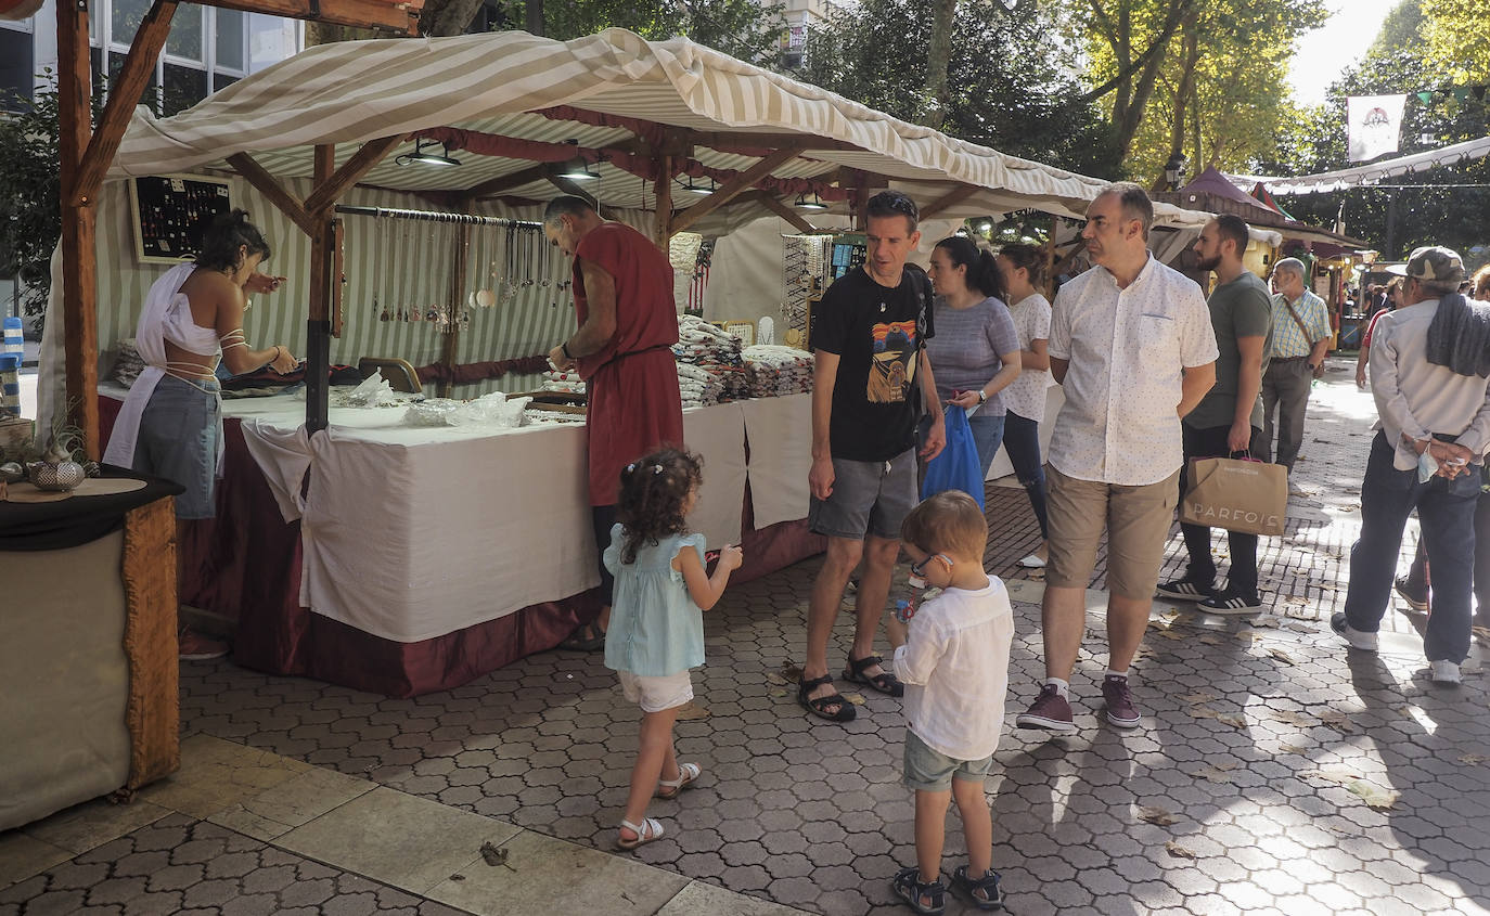
[[834, 280], [812, 322], [812, 349], [839, 357], [833, 383], [833, 457], [887, 462], [916, 441], [916, 352], [931, 338], [919, 271], [881, 286], [863, 270]]

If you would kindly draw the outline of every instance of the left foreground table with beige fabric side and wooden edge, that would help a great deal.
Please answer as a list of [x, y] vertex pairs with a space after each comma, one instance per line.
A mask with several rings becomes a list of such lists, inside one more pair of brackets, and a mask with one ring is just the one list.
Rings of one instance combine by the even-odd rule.
[[[180, 487], [0, 502], [0, 830], [180, 766]], [[88, 481], [95, 483], [95, 481]]]

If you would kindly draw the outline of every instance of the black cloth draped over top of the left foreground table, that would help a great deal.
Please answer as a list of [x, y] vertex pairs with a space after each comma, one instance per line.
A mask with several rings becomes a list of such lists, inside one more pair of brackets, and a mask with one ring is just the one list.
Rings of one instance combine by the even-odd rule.
[[0, 502], [0, 551], [67, 550], [119, 530], [130, 509], [185, 493], [180, 484], [127, 468], [103, 466], [104, 478], [146, 481], [140, 490], [69, 496], [57, 502]]

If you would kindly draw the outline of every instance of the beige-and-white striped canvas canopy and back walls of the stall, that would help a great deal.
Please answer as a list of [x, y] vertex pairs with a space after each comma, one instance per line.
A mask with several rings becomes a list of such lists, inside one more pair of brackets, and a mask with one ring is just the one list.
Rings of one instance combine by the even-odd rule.
[[[462, 165], [398, 165], [395, 155], [413, 152], [420, 137], [450, 143]], [[608, 213], [650, 223], [657, 238], [684, 226], [723, 234], [770, 214], [800, 228], [806, 223], [791, 201], [803, 192], [818, 194], [839, 213], [852, 213], [870, 194], [893, 186], [918, 200], [928, 216], [1037, 207], [1076, 217], [1106, 186], [897, 121], [685, 39], [645, 42], [608, 30], [571, 42], [487, 33], [323, 45], [173, 118], [136, 110], [100, 195], [100, 349], [133, 331], [145, 289], [164, 270], [133, 264], [127, 198], [118, 179], [185, 171], [237, 176], [235, 206], [247, 206], [270, 231], [280, 252], [271, 267], [291, 277], [249, 319], [250, 340], [305, 346], [298, 328], [305, 326], [316, 261], [301, 229], [305, 211], [317, 211], [313, 203], [326, 204], [314, 200], [322, 186], [311, 183], [317, 147], [323, 179], [331, 167], [352, 179], [338, 195], [346, 203], [429, 209], [435, 197], [475, 213], [529, 219], [541, 201], [571, 188], [553, 165], [578, 153], [599, 176], [584, 191]], [[709, 197], [673, 192], [672, 179], [694, 174], [700, 182], [711, 179], [718, 191]], [[295, 206], [304, 209], [297, 213]], [[1156, 209], [1161, 220], [1174, 225], [1198, 226], [1208, 216]], [[425, 328], [372, 325], [371, 296], [392, 280], [368, 271], [401, 274], [395, 280], [408, 301], [431, 301], [446, 295], [435, 277], [454, 255], [441, 253], [438, 238], [374, 235], [362, 241], [349, 238], [347, 244], [347, 335], [329, 343], [329, 356], [322, 359], [434, 354], [438, 343]], [[55, 304], [66, 282], [54, 276], [43, 413], [61, 398], [61, 310]], [[542, 353], [562, 334], [559, 325], [572, 320], [566, 302], [532, 299], [511, 311], [465, 335], [456, 357]], [[314, 350], [313, 326], [308, 334]]]

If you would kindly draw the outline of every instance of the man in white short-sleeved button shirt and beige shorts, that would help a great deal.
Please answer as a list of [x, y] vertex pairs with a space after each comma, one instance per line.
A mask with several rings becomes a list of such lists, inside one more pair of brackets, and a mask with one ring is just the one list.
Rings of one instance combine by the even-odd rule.
[[1119, 182], [1086, 209], [1092, 270], [1061, 287], [1050, 317], [1050, 374], [1065, 386], [1049, 451], [1050, 559], [1044, 687], [1016, 724], [1076, 731], [1070, 684], [1086, 632], [1086, 584], [1107, 530], [1107, 721], [1140, 715], [1128, 666], [1149, 624], [1179, 502], [1180, 417], [1216, 383], [1216, 335], [1193, 280], [1149, 253], [1153, 204]]

